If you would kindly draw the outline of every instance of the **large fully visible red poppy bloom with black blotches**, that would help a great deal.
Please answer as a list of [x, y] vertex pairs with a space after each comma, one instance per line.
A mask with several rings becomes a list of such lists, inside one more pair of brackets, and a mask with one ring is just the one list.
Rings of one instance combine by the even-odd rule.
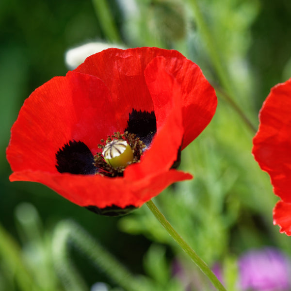
[[[124, 213], [192, 178], [174, 167], [216, 104], [200, 68], [175, 50], [103, 50], [24, 102], [7, 148], [10, 180], [43, 183], [97, 213]], [[114, 132], [142, 141], [118, 171], [98, 146]]]

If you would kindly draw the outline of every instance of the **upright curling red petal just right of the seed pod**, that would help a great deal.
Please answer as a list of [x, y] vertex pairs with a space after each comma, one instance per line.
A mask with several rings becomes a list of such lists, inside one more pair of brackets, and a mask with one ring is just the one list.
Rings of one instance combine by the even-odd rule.
[[170, 169], [176, 161], [184, 134], [181, 88], [164, 67], [163, 58], [155, 58], [145, 70], [157, 119], [157, 134], [140, 163], [125, 171], [125, 178], [138, 179]]

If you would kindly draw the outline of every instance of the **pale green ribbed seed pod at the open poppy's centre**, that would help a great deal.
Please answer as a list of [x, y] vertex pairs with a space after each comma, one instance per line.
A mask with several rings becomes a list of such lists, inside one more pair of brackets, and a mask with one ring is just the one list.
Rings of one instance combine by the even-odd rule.
[[133, 161], [133, 152], [129, 144], [123, 139], [114, 139], [103, 147], [104, 160], [114, 168], [126, 167]]

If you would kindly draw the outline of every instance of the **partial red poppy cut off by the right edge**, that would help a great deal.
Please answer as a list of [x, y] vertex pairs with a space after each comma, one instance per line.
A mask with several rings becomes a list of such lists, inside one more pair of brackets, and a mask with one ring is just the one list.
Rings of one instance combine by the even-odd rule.
[[280, 226], [280, 232], [291, 235], [291, 79], [272, 88], [259, 120], [253, 155], [282, 199], [273, 211], [274, 224]]

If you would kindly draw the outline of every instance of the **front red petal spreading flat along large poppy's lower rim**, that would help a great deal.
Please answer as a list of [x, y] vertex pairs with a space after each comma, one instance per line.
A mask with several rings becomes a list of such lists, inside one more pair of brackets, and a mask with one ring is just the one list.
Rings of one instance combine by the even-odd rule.
[[75, 204], [94, 205], [98, 208], [105, 208], [113, 204], [121, 208], [129, 205], [140, 207], [152, 197], [160, 194], [170, 184], [191, 178], [190, 174], [177, 170], [170, 170], [134, 182], [124, 178], [43, 171], [15, 172], [10, 176], [11, 181], [42, 183]]

